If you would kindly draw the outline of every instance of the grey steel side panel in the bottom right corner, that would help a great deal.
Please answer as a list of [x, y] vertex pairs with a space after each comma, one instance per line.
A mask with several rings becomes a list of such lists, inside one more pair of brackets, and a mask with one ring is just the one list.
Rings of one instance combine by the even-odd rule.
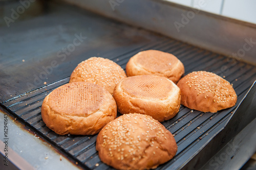
[[256, 119], [230, 140], [215, 156], [209, 159], [201, 170], [240, 169], [256, 151]]

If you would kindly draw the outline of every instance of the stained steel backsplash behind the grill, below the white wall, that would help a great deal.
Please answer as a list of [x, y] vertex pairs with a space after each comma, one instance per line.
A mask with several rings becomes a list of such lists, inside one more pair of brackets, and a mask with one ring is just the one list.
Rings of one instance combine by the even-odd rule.
[[201, 11], [200, 4], [194, 9], [159, 0], [62, 1], [256, 64], [256, 25]]

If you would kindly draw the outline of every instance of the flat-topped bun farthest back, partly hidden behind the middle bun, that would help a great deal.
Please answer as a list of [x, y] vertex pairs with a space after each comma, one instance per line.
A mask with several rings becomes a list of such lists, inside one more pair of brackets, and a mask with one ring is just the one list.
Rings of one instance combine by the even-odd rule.
[[142, 51], [126, 64], [127, 76], [155, 75], [168, 78], [175, 84], [184, 74], [184, 65], [172, 54], [157, 50]]

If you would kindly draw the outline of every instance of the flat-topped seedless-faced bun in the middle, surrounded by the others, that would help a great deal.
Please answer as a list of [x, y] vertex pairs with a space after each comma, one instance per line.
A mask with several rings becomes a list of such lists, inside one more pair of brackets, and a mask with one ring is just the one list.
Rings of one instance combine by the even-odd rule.
[[114, 99], [121, 114], [141, 113], [159, 122], [173, 118], [180, 108], [180, 89], [159, 76], [133, 76], [123, 79], [114, 89]]

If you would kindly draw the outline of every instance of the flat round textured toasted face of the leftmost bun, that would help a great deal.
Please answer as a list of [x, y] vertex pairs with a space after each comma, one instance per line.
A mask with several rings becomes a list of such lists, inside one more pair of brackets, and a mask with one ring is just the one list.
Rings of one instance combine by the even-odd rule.
[[61, 115], [88, 116], [99, 109], [104, 93], [103, 88], [93, 83], [68, 83], [49, 94], [48, 104]]

